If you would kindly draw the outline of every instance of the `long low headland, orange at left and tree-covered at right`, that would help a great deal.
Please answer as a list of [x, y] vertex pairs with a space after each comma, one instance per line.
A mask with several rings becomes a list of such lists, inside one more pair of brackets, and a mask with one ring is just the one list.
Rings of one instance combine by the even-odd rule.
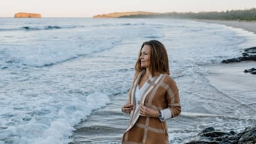
[[216, 19], [216, 20], [239, 20], [256, 21], [256, 8], [245, 10], [232, 10], [222, 12], [186, 12], [186, 13], [152, 13], [144, 11], [108, 13], [94, 16], [94, 18], [196, 18], [196, 19]]

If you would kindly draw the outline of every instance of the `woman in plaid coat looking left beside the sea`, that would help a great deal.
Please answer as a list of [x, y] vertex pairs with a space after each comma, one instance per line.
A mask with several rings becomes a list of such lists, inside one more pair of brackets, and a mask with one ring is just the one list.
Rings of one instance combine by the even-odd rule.
[[129, 101], [122, 106], [130, 115], [122, 143], [169, 143], [166, 119], [178, 116], [181, 104], [164, 45], [158, 40], [144, 42], [135, 71]]

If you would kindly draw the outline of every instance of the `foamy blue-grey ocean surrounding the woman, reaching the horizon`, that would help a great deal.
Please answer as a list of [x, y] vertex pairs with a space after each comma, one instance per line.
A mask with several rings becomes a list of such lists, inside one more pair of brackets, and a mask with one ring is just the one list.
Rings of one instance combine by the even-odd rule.
[[167, 121], [170, 143], [256, 123], [256, 92], [233, 99], [204, 67], [255, 46], [254, 33], [171, 18], [0, 18], [0, 33], [1, 144], [120, 143], [121, 106], [152, 39], [166, 46], [181, 98], [181, 115]]

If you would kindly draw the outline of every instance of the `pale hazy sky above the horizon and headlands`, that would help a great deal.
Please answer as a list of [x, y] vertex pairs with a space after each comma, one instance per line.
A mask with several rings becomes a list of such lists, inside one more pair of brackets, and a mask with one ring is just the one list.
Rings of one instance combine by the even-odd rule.
[[41, 13], [42, 17], [92, 17], [127, 11], [200, 12], [256, 8], [256, 0], [1, 0], [0, 17]]

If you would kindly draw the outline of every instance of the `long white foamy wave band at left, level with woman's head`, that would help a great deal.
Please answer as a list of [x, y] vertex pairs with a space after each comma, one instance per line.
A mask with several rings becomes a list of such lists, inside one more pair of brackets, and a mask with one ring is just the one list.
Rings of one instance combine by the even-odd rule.
[[[1, 69], [8, 67], [51, 67], [58, 65], [59, 63], [68, 62], [78, 57], [86, 57], [97, 52], [103, 52], [114, 48], [115, 43], [118, 40], [102, 39], [80, 42], [79, 46], [69, 49], [69, 47], [63, 46], [63, 48], [56, 48], [59, 45], [50, 45], [46, 48], [34, 48], [29, 47], [15, 47], [7, 49], [5, 60], [3, 60]], [[19, 55], [17, 55], [17, 53]], [[1, 62], [1, 60], [0, 60]]]

